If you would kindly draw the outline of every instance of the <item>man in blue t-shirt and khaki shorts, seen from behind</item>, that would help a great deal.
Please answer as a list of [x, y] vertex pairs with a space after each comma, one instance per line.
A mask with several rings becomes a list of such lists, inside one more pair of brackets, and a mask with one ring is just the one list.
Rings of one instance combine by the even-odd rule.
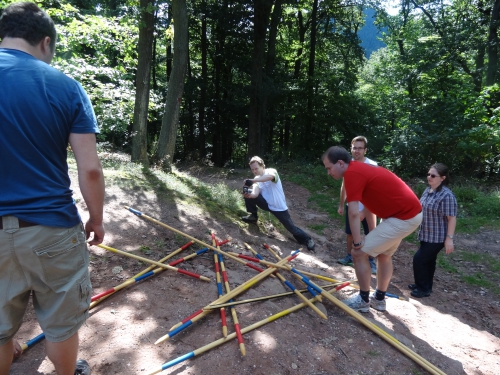
[[[92, 290], [86, 239], [92, 232], [91, 245], [104, 238], [97, 121], [81, 85], [49, 65], [57, 33], [44, 11], [9, 5], [0, 38], [0, 374], [18, 351], [13, 337], [32, 295], [57, 374], [88, 375], [77, 354]], [[70, 189], [68, 143], [85, 225]]]

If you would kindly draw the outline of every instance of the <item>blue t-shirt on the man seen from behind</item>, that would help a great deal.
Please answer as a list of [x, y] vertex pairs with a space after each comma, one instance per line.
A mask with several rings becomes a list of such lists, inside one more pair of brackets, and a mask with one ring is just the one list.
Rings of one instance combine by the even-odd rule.
[[0, 216], [70, 228], [70, 133], [98, 133], [82, 86], [50, 65], [0, 48]]

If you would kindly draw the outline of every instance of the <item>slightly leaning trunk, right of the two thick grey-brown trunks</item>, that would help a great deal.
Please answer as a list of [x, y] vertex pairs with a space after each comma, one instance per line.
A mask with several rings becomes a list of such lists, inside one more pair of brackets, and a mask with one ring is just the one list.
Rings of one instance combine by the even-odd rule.
[[172, 0], [174, 19], [174, 58], [172, 74], [168, 80], [165, 113], [161, 123], [156, 157], [166, 169], [170, 169], [175, 152], [179, 110], [184, 92], [184, 79], [188, 63], [188, 17], [185, 0]]

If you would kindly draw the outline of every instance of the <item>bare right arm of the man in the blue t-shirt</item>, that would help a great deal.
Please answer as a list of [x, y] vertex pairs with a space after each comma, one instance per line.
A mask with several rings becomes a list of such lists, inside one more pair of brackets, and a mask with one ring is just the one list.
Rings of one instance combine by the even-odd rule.
[[101, 162], [97, 156], [95, 134], [69, 135], [69, 144], [75, 154], [78, 168], [78, 182], [83, 199], [89, 210], [89, 220], [85, 223], [87, 239], [90, 233], [94, 237], [90, 245], [98, 245], [104, 239], [103, 206], [104, 206], [104, 175]]

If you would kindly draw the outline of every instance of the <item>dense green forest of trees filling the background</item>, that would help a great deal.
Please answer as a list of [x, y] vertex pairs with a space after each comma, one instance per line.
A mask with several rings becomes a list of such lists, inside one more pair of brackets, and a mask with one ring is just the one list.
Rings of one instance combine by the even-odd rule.
[[[310, 161], [365, 135], [370, 157], [405, 176], [439, 161], [499, 177], [500, 0], [401, 0], [396, 15], [375, 0], [39, 4], [99, 141], [136, 161]], [[369, 58], [366, 9], [385, 45]]]

